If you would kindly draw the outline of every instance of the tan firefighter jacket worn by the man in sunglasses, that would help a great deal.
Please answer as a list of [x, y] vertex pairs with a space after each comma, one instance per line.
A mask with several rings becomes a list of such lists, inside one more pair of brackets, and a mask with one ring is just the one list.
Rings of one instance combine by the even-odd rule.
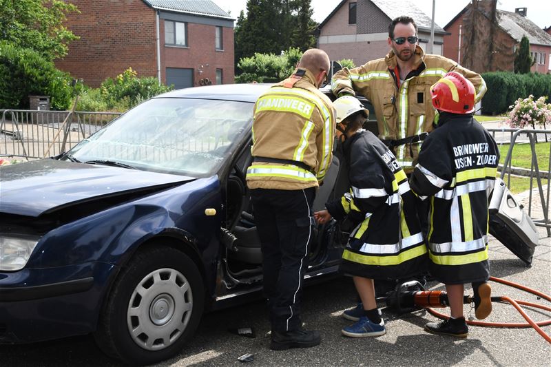
[[[384, 59], [369, 61], [351, 70], [345, 67], [331, 80], [331, 90], [335, 96], [355, 96], [357, 93], [371, 101], [382, 140], [399, 140], [433, 130], [435, 110], [430, 101], [430, 86], [447, 72], [459, 72], [468, 78], [475, 85], [476, 101], [486, 92], [486, 83], [479, 74], [457, 65], [453, 60], [424, 54], [419, 45], [413, 57], [417, 68], [406, 76], [403, 83], [399, 81], [397, 58], [393, 51]], [[419, 145], [398, 145], [394, 149], [397, 162], [406, 172], [413, 170]]]

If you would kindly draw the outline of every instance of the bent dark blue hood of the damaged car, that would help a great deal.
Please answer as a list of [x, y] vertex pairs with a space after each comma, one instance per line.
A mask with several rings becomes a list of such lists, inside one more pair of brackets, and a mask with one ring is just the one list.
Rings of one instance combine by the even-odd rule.
[[124, 193], [158, 191], [195, 178], [43, 159], [0, 170], [0, 212], [38, 217]]

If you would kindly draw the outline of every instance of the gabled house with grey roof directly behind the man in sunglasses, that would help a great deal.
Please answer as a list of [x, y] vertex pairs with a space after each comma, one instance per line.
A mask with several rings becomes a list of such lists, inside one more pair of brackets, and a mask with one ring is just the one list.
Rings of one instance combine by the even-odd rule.
[[[415, 20], [419, 45], [426, 50], [432, 21], [406, 0], [342, 0], [318, 26], [318, 48], [331, 60], [352, 59], [355, 65], [379, 59], [389, 50], [388, 25], [401, 15]], [[433, 54], [442, 53], [444, 34], [435, 24]]]

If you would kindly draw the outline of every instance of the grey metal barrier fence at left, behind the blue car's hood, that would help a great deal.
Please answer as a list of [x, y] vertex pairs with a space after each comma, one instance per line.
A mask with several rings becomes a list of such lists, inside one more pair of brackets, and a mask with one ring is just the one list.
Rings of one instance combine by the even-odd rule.
[[121, 115], [117, 112], [0, 109], [0, 156], [56, 156]]

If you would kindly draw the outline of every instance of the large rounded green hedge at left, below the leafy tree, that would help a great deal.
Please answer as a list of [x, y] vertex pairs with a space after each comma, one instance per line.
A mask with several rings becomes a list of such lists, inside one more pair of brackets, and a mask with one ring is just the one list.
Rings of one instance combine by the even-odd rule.
[[72, 78], [33, 50], [0, 41], [0, 108], [28, 109], [29, 96], [50, 96], [52, 109], [70, 107]]

